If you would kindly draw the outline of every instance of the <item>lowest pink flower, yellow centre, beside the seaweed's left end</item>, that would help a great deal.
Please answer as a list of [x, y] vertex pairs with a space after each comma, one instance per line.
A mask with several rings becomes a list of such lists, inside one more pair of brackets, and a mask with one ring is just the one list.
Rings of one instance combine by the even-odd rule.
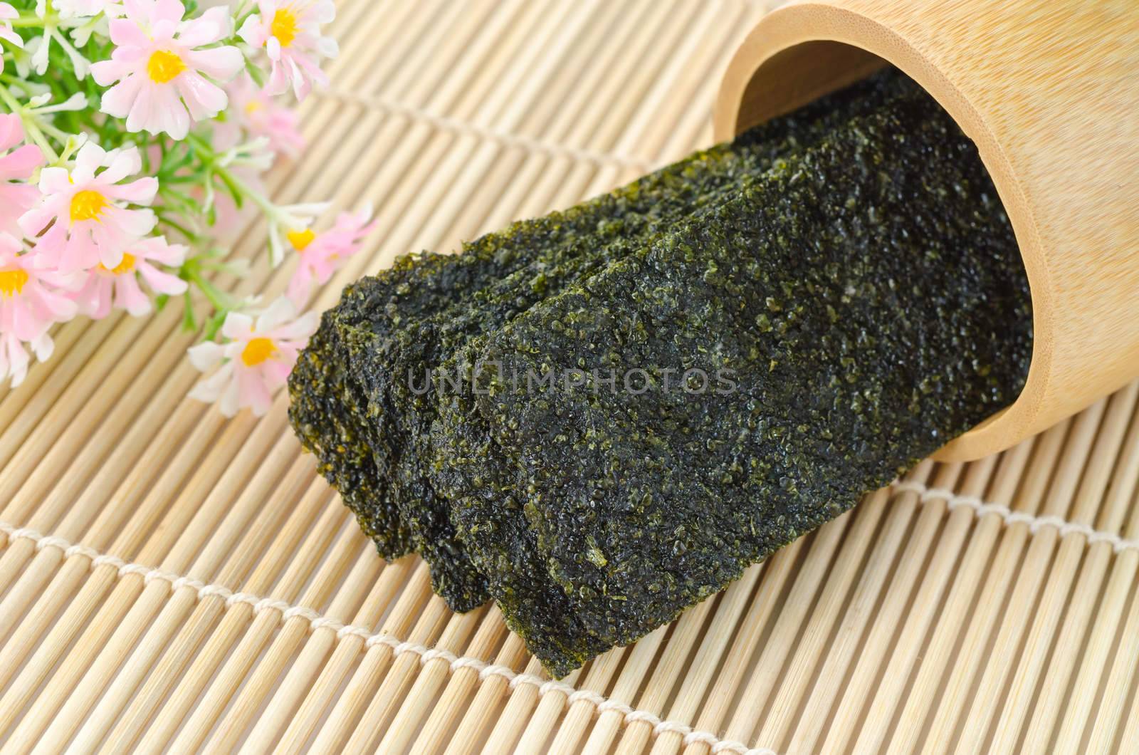
[[261, 416], [269, 411], [272, 392], [285, 384], [296, 364], [296, 355], [317, 330], [317, 314], [296, 317], [293, 302], [281, 297], [256, 322], [248, 315], [230, 312], [221, 327], [227, 343], [206, 341], [189, 349], [194, 366], [212, 375], [190, 391], [190, 398], [219, 401], [221, 413], [233, 416], [248, 406]]

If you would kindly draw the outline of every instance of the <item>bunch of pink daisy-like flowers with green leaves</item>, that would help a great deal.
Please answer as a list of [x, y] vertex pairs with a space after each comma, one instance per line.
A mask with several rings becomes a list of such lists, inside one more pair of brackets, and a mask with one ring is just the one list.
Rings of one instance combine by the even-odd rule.
[[[316, 330], [318, 284], [359, 251], [370, 210], [279, 205], [262, 176], [303, 141], [293, 104], [327, 83], [331, 0], [0, 1], [0, 381], [50, 358], [57, 323], [149, 315], [171, 300], [202, 334], [191, 396], [264, 413]], [[264, 217], [286, 294], [215, 285], [243, 274], [227, 234]]]

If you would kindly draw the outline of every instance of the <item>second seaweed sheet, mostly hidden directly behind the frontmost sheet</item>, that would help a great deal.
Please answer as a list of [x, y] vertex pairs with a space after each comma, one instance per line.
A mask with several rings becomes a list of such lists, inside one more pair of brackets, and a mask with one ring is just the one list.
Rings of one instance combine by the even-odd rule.
[[[427, 375], [439, 373], [450, 355], [470, 338], [500, 327], [535, 302], [596, 273], [608, 261], [644, 247], [686, 217], [729, 198], [745, 177], [762, 172], [772, 161], [802, 145], [825, 138], [833, 123], [852, 112], [882, 106], [899, 87], [888, 76], [858, 84], [825, 102], [753, 130], [731, 145], [696, 153], [685, 161], [564, 213], [531, 221], [566, 227], [525, 267], [490, 278], [469, 301], [457, 301], [425, 319], [407, 319], [392, 331], [388, 343], [359, 366], [368, 395], [394, 412], [398, 460], [391, 486], [402, 521], [412, 531], [416, 549], [432, 567], [436, 592], [462, 610], [485, 595], [484, 571], [470, 563], [456, 538], [449, 504], [435, 488], [428, 468], [431, 429], [437, 420], [435, 398], [412, 389], [412, 376], [431, 388]], [[517, 246], [517, 235], [492, 235], [487, 243]], [[468, 252], [469, 253], [469, 252]], [[521, 258], [523, 254], [519, 253]], [[361, 352], [363, 354], [363, 352]], [[482, 593], [480, 593], [482, 591]]]

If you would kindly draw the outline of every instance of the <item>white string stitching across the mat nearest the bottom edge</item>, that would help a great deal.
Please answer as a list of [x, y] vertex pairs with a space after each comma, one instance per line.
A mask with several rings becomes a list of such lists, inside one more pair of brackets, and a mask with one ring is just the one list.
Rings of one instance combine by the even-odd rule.
[[623, 716], [626, 723], [644, 721], [645, 723], [652, 724], [654, 737], [664, 732], [673, 732], [683, 737], [683, 744], [686, 746], [693, 742], [703, 742], [708, 745], [713, 753], [731, 752], [740, 755], [776, 755], [773, 750], [765, 747], [748, 748], [747, 745], [743, 742], [720, 739], [710, 731], [699, 731], [679, 721], [664, 721], [656, 714], [648, 711], [638, 711], [632, 706], [625, 705], [624, 703], [611, 700], [589, 690], [580, 690], [575, 687], [566, 684], [565, 682], [543, 679], [534, 674], [518, 673], [508, 666], [489, 664], [480, 658], [457, 656], [449, 650], [427, 648], [413, 642], [405, 642], [384, 632], [372, 632], [363, 626], [345, 624], [337, 619], [322, 616], [316, 610], [304, 606], [293, 606], [282, 600], [262, 598], [260, 595], [243, 592], [233, 592], [224, 585], [206, 584], [199, 579], [170, 574], [141, 563], [130, 563], [116, 555], [100, 553], [92, 547], [77, 543], [71, 543], [63, 537], [43, 535], [30, 527], [16, 527], [15, 525], [0, 521], [0, 533], [6, 534], [9, 542], [16, 539], [17, 537], [30, 539], [34, 543], [36, 551], [51, 546], [63, 551], [64, 555], [68, 559], [73, 555], [87, 557], [90, 559], [92, 568], [99, 566], [110, 566], [117, 569], [120, 575], [139, 575], [146, 584], [150, 584], [155, 579], [162, 579], [163, 582], [169, 583], [171, 592], [189, 587], [196, 592], [198, 600], [203, 598], [219, 598], [224, 600], [227, 606], [246, 603], [253, 609], [254, 614], [272, 608], [280, 612], [280, 619], [282, 622], [300, 617], [309, 622], [312, 630], [327, 628], [336, 632], [336, 638], [338, 640], [352, 635], [363, 640], [364, 646], [368, 648], [378, 644], [387, 646], [392, 649], [392, 652], [398, 656], [404, 652], [413, 652], [419, 656], [419, 661], [421, 664], [426, 664], [431, 660], [443, 660], [449, 664], [451, 672], [456, 672], [460, 668], [472, 668], [477, 671], [480, 680], [485, 680], [490, 676], [501, 676], [509, 683], [510, 689], [516, 688], [518, 684], [532, 684], [538, 688], [540, 697], [554, 691], [562, 692], [566, 696], [566, 705], [572, 705], [577, 700], [585, 700], [590, 703], [598, 713], [615, 711]]

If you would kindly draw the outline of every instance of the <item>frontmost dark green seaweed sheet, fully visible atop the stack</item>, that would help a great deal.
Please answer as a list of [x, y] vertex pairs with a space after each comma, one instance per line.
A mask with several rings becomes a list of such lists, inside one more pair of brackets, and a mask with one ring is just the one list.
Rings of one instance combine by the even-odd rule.
[[[974, 146], [913, 90], [487, 338], [477, 408], [584, 628], [562, 644], [636, 640], [1015, 399], [1017, 247]], [[568, 370], [644, 371], [649, 390], [511, 384]], [[540, 609], [508, 618], [556, 623]], [[551, 673], [583, 660], [549, 644], [532, 649]]]

